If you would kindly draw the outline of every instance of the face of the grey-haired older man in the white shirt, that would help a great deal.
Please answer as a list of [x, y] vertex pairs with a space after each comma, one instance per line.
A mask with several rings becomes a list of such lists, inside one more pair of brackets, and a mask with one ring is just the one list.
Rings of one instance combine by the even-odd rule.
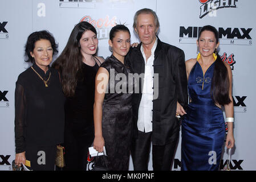
[[137, 16], [137, 26], [135, 31], [139, 35], [140, 41], [145, 44], [154, 44], [158, 28], [155, 24], [155, 17], [152, 14], [140, 14]]

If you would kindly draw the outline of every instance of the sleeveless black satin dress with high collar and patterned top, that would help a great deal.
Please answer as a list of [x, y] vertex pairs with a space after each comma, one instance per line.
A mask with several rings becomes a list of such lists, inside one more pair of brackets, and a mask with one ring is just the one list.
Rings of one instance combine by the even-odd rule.
[[[133, 90], [133, 82], [132, 79], [128, 79], [128, 74], [132, 71], [113, 55], [100, 67], [109, 72], [108, 93], [105, 93], [103, 101], [102, 118], [107, 167], [109, 170], [127, 171], [132, 138]], [[119, 76], [122, 78], [120, 79]]]

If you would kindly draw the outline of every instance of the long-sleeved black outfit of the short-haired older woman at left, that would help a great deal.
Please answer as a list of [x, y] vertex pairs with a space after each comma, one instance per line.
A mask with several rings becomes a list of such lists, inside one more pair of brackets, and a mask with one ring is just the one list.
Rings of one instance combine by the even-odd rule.
[[[47, 87], [32, 68], [44, 80], [50, 76]], [[56, 69], [49, 67], [44, 73], [36, 64], [32, 68], [22, 72], [16, 82], [16, 154], [26, 151], [33, 170], [53, 170], [56, 144], [63, 143], [64, 94]], [[46, 160], [42, 159], [44, 155]], [[38, 163], [39, 157], [42, 163]]]

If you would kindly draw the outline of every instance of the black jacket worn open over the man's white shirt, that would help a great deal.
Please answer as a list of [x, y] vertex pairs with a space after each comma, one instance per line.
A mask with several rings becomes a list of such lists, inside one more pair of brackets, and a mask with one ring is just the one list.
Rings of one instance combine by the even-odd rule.
[[[125, 57], [125, 63], [132, 68], [134, 73], [145, 72], [145, 63], [138, 47], [131, 48]], [[159, 96], [153, 100], [152, 117], [152, 143], [164, 145], [177, 139], [180, 123], [177, 121], [177, 101], [186, 108], [188, 101], [187, 78], [184, 52], [177, 47], [163, 43], [158, 39], [153, 62], [154, 73], [159, 74]], [[133, 94], [133, 125], [135, 137], [137, 135], [138, 110], [142, 96], [143, 82], [139, 80], [139, 94]], [[157, 92], [157, 84], [154, 78], [154, 94]], [[176, 133], [176, 137], [173, 137]]]

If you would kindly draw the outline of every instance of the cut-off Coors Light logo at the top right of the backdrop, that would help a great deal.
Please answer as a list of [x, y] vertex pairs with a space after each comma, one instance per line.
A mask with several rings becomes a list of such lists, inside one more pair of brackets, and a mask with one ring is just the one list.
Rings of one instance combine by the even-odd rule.
[[211, 13], [214, 10], [226, 7], [237, 7], [235, 5], [238, 0], [199, 0], [202, 4], [200, 6], [200, 18], [203, 18], [205, 15]]

